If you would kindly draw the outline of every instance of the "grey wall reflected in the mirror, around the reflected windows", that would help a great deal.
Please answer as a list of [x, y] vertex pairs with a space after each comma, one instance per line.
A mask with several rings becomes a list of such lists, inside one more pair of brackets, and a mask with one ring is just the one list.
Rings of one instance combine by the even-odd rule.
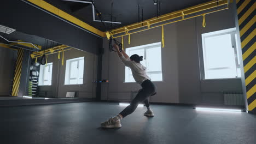
[[[83, 85], [64, 85], [66, 60], [84, 56], [84, 82]], [[39, 86], [41, 97], [66, 97], [66, 92], [77, 92], [78, 97], [96, 98], [97, 79], [97, 56], [77, 49], [68, 50], [64, 53], [64, 65], [62, 59], [58, 59], [58, 53], [49, 55], [48, 63], [53, 62], [53, 75], [51, 86]], [[61, 53], [62, 58], [62, 53]]]

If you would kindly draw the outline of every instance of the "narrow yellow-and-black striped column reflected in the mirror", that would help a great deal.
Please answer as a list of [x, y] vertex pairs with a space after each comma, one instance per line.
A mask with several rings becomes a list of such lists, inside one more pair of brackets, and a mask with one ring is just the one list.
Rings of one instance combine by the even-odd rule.
[[11, 91], [12, 96], [18, 96], [19, 87], [20, 87], [20, 76], [21, 76], [21, 68], [23, 61], [23, 49], [18, 49], [18, 56], [16, 59], [16, 67], [14, 73], [14, 81], [13, 81], [13, 90]]

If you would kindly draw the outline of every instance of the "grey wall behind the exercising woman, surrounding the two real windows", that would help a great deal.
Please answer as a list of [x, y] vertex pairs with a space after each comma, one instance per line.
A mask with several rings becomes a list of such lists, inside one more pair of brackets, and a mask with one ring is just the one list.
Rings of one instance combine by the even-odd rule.
[[[202, 80], [201, 34], [235, 27], [233, 8], [202, 17], [166, 25], [165, 47], [162, 48], [162, 82], [154, 82], [158, 94], [150, 101], [160, 103], [223, 104], [222, 91], [242, 91], [240, 79]], [[120, 39], [119, 39], [120, 40]], [[124, 37], [124, 47], [161, 41], [161, 27], [131, 35], [131, 44]], [[108, 52], [108, 40], [103, 40], [105, 53], [102, 61], [101, 99], [129, 101], [140, 88], [135, 83], [124, 83], [125, 67], [116, 53]], [[201, 67], [200, 67], [201, 66]]]

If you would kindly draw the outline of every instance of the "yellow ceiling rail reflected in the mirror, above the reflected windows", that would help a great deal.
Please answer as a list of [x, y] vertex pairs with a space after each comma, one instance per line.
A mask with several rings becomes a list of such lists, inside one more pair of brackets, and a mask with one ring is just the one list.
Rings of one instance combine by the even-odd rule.
[[33, 52], [30, 56], [31, 56], [31, 58], [38, 58], [38, 57], [42, 57], [43, 54], [51, 55], [53, 53], [67, 51], [67, 50], [72, 50], [72, 47], [67, 46], [67, 45], [59, 45], [59, 46], [51, 47], [50, 49], [47, 49], [45, 51], [42, 50], [42, 51], [38, 51], [38, 52]]

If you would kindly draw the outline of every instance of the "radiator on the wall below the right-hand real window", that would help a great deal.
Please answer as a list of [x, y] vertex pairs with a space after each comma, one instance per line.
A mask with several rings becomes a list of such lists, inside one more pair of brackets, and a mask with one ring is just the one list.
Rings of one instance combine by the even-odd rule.
[[225, 105], [245, 105], [242, 92], [224, 92]]

